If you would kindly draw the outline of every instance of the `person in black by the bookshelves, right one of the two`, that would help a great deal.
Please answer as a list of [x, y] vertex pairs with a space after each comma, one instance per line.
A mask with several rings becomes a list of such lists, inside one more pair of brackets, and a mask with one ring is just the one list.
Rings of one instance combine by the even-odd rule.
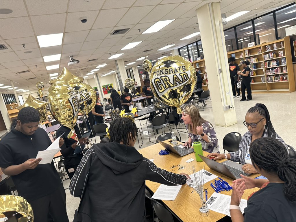
[[[249, 61], [242, 62], [242, 72], [237, 72], [238, 75], [242, 75], [242, 99], [240, 101], [252, 100], [252, 90], [251, 90], [251, 76], [250, 76], [250, 65]], [[247, 99], [246, 99], [246, 89], [247, 89]]]

